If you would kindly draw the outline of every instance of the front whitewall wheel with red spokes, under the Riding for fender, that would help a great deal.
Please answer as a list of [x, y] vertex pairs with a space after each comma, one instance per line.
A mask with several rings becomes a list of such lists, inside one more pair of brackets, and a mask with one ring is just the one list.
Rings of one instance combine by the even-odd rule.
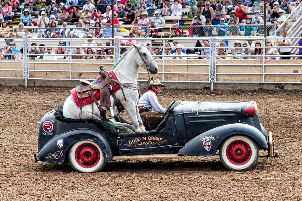
[[236, 135], [222, 144], [219, 157], [228, 170], [248, 171], [255, 166], [258, 160], [259, 148], [254, 140]]

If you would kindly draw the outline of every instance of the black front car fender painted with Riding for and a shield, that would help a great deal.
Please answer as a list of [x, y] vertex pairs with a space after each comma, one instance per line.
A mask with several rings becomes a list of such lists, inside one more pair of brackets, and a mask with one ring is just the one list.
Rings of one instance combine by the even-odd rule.
[[228, 124], [208, 130], [191, 139], [179, 150], [178, 154], [188, 156], [214, 156], [219, 145], [226, 138], [238, 134], [252, 138], [261, 148], [267, 148], [267, 141], [262, 132], [257, 128], [248, 124]]

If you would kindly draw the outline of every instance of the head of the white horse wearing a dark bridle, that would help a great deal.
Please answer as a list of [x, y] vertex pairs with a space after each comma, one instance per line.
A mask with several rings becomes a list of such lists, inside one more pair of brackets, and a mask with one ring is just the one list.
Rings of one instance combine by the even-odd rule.
[[148, 70], [151, 74], [158, 73], [158, 66], [155, 63], [154, 59], [151, 56], [149, 49], [143, 43], [132, 44], [134, 48], [137, 49], [139, 56], [139, 66], [142, 66], [144, 69]]

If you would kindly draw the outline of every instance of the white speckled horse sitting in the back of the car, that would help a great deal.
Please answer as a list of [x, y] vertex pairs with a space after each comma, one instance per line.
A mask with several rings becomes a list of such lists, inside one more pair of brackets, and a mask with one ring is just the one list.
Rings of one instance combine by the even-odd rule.
[[[118, 81], [122, 84], [123, 83], [137, 84], [139, 66], [142, 66], [144, 69], [148, 70], [148, 72], [150, 72], [151, 74], [156, 74], [158, 72], [158, 66], [155, 63], [154, 59], [151, 57], [151, 53], [149, 49], [147, 49], [143, 43], [137, 45], [132, 44], [132, 45], [134, 46], [134, 48], [129, 49], [124, 54], [124, 56], [115, 64], [115, 66], [113, 66], [111, 69], [115, 73]], [[138, 90], [134, 90], [133, 88], [131, 89], [127, 87], [123, 87], [123, 90], [126, 97], [126, 101], [124, 99], [121, 90], [115, 92], [116, 98], [120, 99], [120, 103], [127, 111], [135, 131], [136, 132], [146, 131], [142, 123], [142, 120], [139, 116], [139, 110], [137, 107], [137, 103], [139, 99]], [[114, 103], [113, 103], [112, 96], [110, 100], [111, 100], [111, 105], [113, 106]], [[100, 101], [98, 101], [98, 103], [100, 104]], [[112, 107], [112, 108], [113, 108], [114, 116], [116, 116], [119, 113], [118, 109], [117, 107]], [[106, 108], [103, 107], [103, 109]], [[82, 106], [81, 116], [79, 116], [79, 114], [80, 114], [80, 107], [77, 107], [72, 95], [70, 95], [65, 100], [64, 107], [63, 107], [63, 115], [65, 116], [65, 118], [73, 118], [73, 119], [94, 118], [98, 120], [103, 120], [100, 115], [100, 111], [95, 103], [90, 103]], [[118, 123], [118, 122], [116, 123], [117, 125], [125, 126], [123, 123]], [[132, 130], [133, 129], [129, 129], [128, 127], [128, 129], [124, 130], [124, 132], [132, 132]]]

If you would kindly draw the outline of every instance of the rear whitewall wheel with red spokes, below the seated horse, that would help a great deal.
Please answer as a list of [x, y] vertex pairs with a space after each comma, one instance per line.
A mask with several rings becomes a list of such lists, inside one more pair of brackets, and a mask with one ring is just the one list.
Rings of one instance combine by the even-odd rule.
[[68, 159], [71, 167], [77, 172], [98, 172], [106, 165], [101, 148], [89, 140], [73, 144]]

